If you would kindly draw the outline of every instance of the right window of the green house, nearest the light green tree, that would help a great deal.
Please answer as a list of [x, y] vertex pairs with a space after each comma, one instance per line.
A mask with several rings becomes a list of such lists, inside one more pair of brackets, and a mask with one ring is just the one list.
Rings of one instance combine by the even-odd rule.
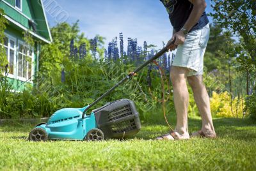
[[26, 81], [32, 77], [33, 49], [19, 42], [17, 59], [17, 76]]

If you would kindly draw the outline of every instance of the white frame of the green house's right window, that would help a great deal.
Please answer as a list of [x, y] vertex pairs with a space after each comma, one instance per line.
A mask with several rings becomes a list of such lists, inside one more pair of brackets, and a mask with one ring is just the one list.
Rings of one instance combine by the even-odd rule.
[[[28, 47], [28, 45], [26, 45], [25, 43], [24, 43], [24, 41], [21, 41], [21, 40], [18, 40], [18, 46], [17, 46], [17, 62], [16, 62], [16, 65], [17, 65], [17, 72], [16, 72], [16, 75], [17, 75], [17, 80], [20, 80], [20, 81], [23, 81], [23, 82], [30, 82], [30, 83], [33, 83], [33, 77], [34, 77], [34, 47], [32, 47], [31, 48], [31, 50], [32, 50], [32, 54], [31, 54], [31, 78], [29, 79], [28, 78], [28, 63], [27, 63], [27, 73], [26, 73], [26, 78], [25, 77], [20, 77], [19, 76], [19, 45], [23, 45], [23, 47], [27, 47], [28, 49], [29, 49], [29, 47]], [[23, 53], [22, 53], [23, 54]], [[26, 53], [26, 56], [27, 57], [29, 57], [29, 52], [27, 52]], [[22, 62], [23, 62], [23, 60], [22, 60]], [[23, 67], [22, 67], [22, 73], [23, 73]], [[29, 79], [29, 80], [28, 80]]]

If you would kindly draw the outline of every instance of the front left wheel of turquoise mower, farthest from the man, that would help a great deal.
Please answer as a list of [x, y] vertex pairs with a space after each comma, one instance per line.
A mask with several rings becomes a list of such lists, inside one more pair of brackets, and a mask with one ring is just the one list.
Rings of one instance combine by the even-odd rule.
[[47, 141], [48, 135], [47, 132], [43, 128], [34, 128], [30, 131], [29, 141]]

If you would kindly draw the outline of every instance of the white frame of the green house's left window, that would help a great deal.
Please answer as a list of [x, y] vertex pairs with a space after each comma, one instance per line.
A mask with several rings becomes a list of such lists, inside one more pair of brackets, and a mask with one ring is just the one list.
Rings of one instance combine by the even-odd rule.
[[[14, 51], [14, 57], [13, 57], [13, 74], [12, 73], [8, 73], [7, 77], [9, 78], [15, 78], [16, 75], [16, 56], [17, 56], [17, 40], [15, 37], [11, 36], [10, 34], [4, 33], [4, 36], [6, 36], [6, 38], [8, 38], [8, 45], [7, 45], [7, 60], [8, 60], [8, 64], [10, 64], [10, 49], [12, 49]], [[11, 42], [10, 41], [14, 41], [14, 48], [11, 47]], [[3, 47], [6, 47], [5, 45], [2, 45]], [[9, 72], [10, 70], [8, 70]]]

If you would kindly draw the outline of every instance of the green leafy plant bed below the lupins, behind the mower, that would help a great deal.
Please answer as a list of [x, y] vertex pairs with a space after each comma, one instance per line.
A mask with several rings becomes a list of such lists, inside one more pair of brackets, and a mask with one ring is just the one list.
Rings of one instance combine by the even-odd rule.
[[[63, 58], [61, 64], [65, 70], [65, 82], [61, 82], [60, 70], [49, 72], [47, 77], [38, 76], [38, 82], [33, 88], [17, 93], [11, 91], [12, 85], [6, 79], [2, 79], [1, 119], [49, 117], [60, 108], [84, 107], [119, 82], [129, 71], [134, 70], [133, 64], [123, 64], [121, 61], [116, 63], [99, 61], [90, 56], [79, 61]], [[129, 98], [136, 103], [141, 119], [153, 120], [152, 118], [156, 118], [156, 115], [163, 114], [160, 102], [161, 80], [157, 70], [152, 71], [152, 79], [154, 79], [152, 95], [147, 87], [147, 70], [143, 70], [93, 108], [100, 107], [108, 101]], [[172, 100], [172, 98], [169, 99]], [[170, 100], [166, 105], [169, 108], [167, 113], [171, 113], [170, 108], [173, 108]]]

